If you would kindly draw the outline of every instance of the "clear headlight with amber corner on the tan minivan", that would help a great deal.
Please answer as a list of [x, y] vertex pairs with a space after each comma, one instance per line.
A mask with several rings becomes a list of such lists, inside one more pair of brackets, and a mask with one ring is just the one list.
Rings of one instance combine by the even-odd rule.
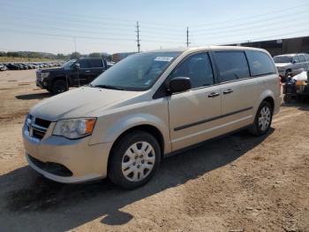
[[94, 130], [95, 118], [80, 118], [71, 120], [58, 120], [53, 135], [76, 139], [91, 135]]

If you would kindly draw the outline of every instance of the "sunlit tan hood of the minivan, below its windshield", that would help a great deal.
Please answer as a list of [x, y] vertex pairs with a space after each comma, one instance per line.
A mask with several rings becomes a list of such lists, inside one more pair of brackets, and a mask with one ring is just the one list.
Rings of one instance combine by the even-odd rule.
[[50, 121], [95, 117], [98, 115], [91, 115], [91, 112], [101, 108], [109, 109], [119, 102], [132, 99], [132, 97], [137, 97], [142, 93], [82, 87], [41, 101], [41, 103], [34, 105], [30, 114]]

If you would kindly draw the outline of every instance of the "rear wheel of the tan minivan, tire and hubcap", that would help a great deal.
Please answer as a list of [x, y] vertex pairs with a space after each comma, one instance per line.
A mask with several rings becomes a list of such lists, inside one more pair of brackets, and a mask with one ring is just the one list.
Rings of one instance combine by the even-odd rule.
[[260, 104], [258, 112], [255, 115], [254, 122], [249, 128], [252, 135], [261, 136], [268, 133], [273, 120], [273, 108], [267, 101]]

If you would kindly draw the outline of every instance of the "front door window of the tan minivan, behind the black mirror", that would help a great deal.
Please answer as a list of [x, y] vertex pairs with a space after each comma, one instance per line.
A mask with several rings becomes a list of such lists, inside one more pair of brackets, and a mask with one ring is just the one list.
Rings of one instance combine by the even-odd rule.
[[186, 58], [171, 73], [171, 78], [177, 76], [189, 77], [192, 89], [213, 85], [214, 75], [208, 54], [200, 53]]

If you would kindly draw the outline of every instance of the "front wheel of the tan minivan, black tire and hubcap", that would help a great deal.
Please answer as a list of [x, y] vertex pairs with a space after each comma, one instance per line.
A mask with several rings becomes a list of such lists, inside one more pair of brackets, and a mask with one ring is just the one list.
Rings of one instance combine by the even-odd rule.
[[145, 131], [133, 131], [113, 146], [109, 179], [124, 189], [139, 188], [154, 176], [160, 161], [161, 149], [155, 137]]

